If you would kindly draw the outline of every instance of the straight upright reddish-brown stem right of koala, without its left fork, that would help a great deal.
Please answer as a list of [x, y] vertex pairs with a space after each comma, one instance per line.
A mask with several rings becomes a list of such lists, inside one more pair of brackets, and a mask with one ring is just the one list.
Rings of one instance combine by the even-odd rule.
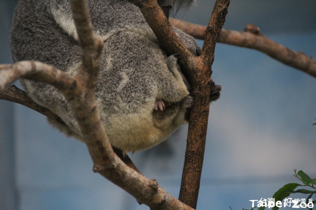
[[228, 12], [229, 0], [217, 0], [206, 29], [202, 54], [198, 57], [197, 79], [192, 85], [195, 103], [191, 109], [179, 200], [196, 208], [204, 160], [206, 131], [210, 107], [210, 78], [216, 41]]

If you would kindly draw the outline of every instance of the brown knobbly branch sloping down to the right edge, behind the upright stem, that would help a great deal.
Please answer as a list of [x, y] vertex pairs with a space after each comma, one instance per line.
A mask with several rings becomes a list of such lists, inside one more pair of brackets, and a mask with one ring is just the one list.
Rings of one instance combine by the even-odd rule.
[[[173, 26], [182, 29], [194, 38], [204, 39], [205, 37], [206, 26], [172, 18], [170, 18], [169, 21]], [[252, 30], [253, 28], [255, 28], [255, 30]], [[303, 52], [295, 52], [272, 41], [260, 33], [258, 27], [253, 25], [247, 25], [245, 32], [222, 29], [221, 35], [217, 41], [224, 44], [258, 50], [285, 65], [294, 67], [316, 77], [316, 61], [312, 57], [305, 55]]]

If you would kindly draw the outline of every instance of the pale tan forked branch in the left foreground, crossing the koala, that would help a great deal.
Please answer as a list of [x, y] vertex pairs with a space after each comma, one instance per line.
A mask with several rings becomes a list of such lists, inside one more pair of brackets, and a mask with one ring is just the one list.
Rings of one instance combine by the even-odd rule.
[[[168, 194], [155, 180], [145, 178], [126, 166], [113, 152], [101, 124], [94, 96], [103, 42], [94, 35], [85, 0], [70, 0], [70, 5], [75, 14], [74, 20], [82, 46], [83, 63], [79, 73], [70, 76], [57, 68], [35, 61], [1, 65], [0, 90], [18, 78], [53, 85], [70, 104], [94, 163], [94, 172], [99, 172], [151, 209], [192, 209]], [[82, 23], [84, 24], [81, 25]]]

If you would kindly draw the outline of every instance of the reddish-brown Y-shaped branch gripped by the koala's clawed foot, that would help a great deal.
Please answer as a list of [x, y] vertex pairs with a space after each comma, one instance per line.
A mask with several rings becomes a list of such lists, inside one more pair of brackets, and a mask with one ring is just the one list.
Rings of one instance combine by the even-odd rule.
[[190, 113], [185, 166], [179, 199], [195, 208], [203, 165], [205, 138], [210, 104], [211, 65], [216, 40], [227, 14], [229, 1], [216, 1], [203, 53], [196, 57], [181, 43], [155, 0], [139, 1], [137, 6], [168, 54], [181, 55], [181, 71], [192, 86], [195, 103]]

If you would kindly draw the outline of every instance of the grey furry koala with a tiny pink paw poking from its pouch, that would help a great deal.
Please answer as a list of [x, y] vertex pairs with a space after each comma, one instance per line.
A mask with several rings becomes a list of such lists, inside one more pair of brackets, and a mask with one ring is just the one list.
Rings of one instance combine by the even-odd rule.
[[[123, 153], [150, 148], [187, 122], [193, 103], [190, 86], [177, 63], [179, 55], [167, 55], [132, 1], [87, 2], [94, 32], [104, 41], [95, 96], [110, 143]], [[158, 3], [168, 17], [173, 0]], [[194, 55], [200, 55], [194, 38], [173, 29]], [[68, 0], [19, 0], [10, 43], [13, 61], [40, 61], [71, 75], [80, 69], [81, 48]], [[21, 79], [21, 84], [36, 103], [64, 121], [48, 118], [50, 124], [83, 140], [57, 89], [27, 79]], [[212, 86], [213, 100], [219, 97], [219, 90]]]

